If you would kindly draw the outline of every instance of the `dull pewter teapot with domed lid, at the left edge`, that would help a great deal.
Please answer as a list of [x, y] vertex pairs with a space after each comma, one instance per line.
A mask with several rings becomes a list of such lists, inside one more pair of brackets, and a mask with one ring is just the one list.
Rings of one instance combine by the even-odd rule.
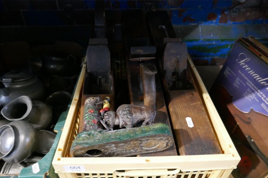
[[10, 71], [0, 77], [0, 107], [23, 95], [42, 100], [44, 93], [42, 82], [29, 72]]

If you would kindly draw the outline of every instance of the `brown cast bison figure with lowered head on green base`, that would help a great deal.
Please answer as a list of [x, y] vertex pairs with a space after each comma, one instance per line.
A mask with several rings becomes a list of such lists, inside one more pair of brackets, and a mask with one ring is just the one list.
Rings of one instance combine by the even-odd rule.
[[133, 128], [139, 121], [144, 120], [142, 125], [152, 124], [155, 118], [155, 110], [147, 106], [135, 106], [132, 104], [123, 104], [114, 111], [108, 111], [104, 114], [103, 121], [107, 123], [112, 130], [114, 125], [119, 127]]

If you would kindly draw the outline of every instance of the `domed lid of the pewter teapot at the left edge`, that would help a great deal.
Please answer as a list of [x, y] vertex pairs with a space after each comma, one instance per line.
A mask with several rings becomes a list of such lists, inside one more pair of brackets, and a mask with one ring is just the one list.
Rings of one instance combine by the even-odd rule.
[[25, 71], [10, 71], [5, 73], [3, 76], [0, 77], [0, 81], [3, 83], [11, 83], [11, 82], [24, 82], [33, 78], [34, 75], [25, 72]]

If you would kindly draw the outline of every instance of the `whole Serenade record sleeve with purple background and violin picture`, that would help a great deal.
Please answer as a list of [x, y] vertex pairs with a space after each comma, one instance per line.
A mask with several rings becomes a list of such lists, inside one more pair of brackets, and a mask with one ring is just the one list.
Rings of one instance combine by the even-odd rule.
[[235, 42], [216, 78], [211, 98], [229, 134], [268, 164], [268, 65]]

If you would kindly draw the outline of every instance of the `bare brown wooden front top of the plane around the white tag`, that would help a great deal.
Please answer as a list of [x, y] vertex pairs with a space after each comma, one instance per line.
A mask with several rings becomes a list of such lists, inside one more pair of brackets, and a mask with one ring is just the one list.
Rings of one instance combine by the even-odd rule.
[[[197, 90], [169, 91], [169, 97], [169, 113], [180, 155], [221, 154]], [[186, 117], [191, 117], [194, 127], [188, 127]]]

